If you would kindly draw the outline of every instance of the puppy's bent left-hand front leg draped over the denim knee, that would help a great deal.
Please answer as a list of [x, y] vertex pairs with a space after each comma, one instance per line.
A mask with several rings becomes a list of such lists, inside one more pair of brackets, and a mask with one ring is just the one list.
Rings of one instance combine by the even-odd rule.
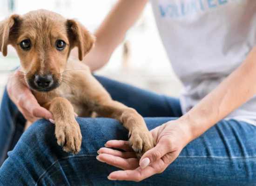
[[79, 153], [82, 135], [80, 127], [74, 118], [74, 108], [65, 98], [54, 98], [43, 105], [52, 114], [55, 121], [55, 136], [59, 146], [67, 153]]

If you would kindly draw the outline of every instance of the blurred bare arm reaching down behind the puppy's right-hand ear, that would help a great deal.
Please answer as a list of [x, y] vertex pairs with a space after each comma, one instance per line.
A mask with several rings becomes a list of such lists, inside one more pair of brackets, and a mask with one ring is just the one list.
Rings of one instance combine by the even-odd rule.
[[[104, 66], [115, 48], [123, 41], [125, 33], [138, 19], [147, 1], [119, 0], [94, 33], [96, 37], [94, 48], [82, 62], [92, 71]], [[77, 49], [75, 48], [71, 54], [78, 56]]]

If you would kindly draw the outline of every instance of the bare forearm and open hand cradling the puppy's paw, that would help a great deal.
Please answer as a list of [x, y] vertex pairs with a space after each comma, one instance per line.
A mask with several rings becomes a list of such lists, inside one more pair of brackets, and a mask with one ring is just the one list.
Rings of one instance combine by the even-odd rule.
[[[141, 181], [162, 173], [192, 140], [256, 94], [256, 47], [247, 59], [188, 113], [151, 130], [156, 146], [136, 160], [115, 150], [101, 148], [97, 159], [124, 169], [109, 174], [110, 180]], [[110, 140], [108, 147], [127, 149], [127, 141]], [[126, 147], [126, 148], [124, 148]], [[123, 158], [125, 157], [125, 159]], [[138, 167], [135, 169], [135, 167]]]

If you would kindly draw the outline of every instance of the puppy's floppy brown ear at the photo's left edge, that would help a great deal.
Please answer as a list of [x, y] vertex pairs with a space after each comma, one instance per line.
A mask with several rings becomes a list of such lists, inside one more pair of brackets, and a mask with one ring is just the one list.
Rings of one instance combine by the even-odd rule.
[[11, 44], [14, 35], [17, 34], [20, 21], [20, 15], [13, 14], [11, 17], [0, 22], [0, 52], [3, 53], [3, 56], [7, 56], [7, 45]]

